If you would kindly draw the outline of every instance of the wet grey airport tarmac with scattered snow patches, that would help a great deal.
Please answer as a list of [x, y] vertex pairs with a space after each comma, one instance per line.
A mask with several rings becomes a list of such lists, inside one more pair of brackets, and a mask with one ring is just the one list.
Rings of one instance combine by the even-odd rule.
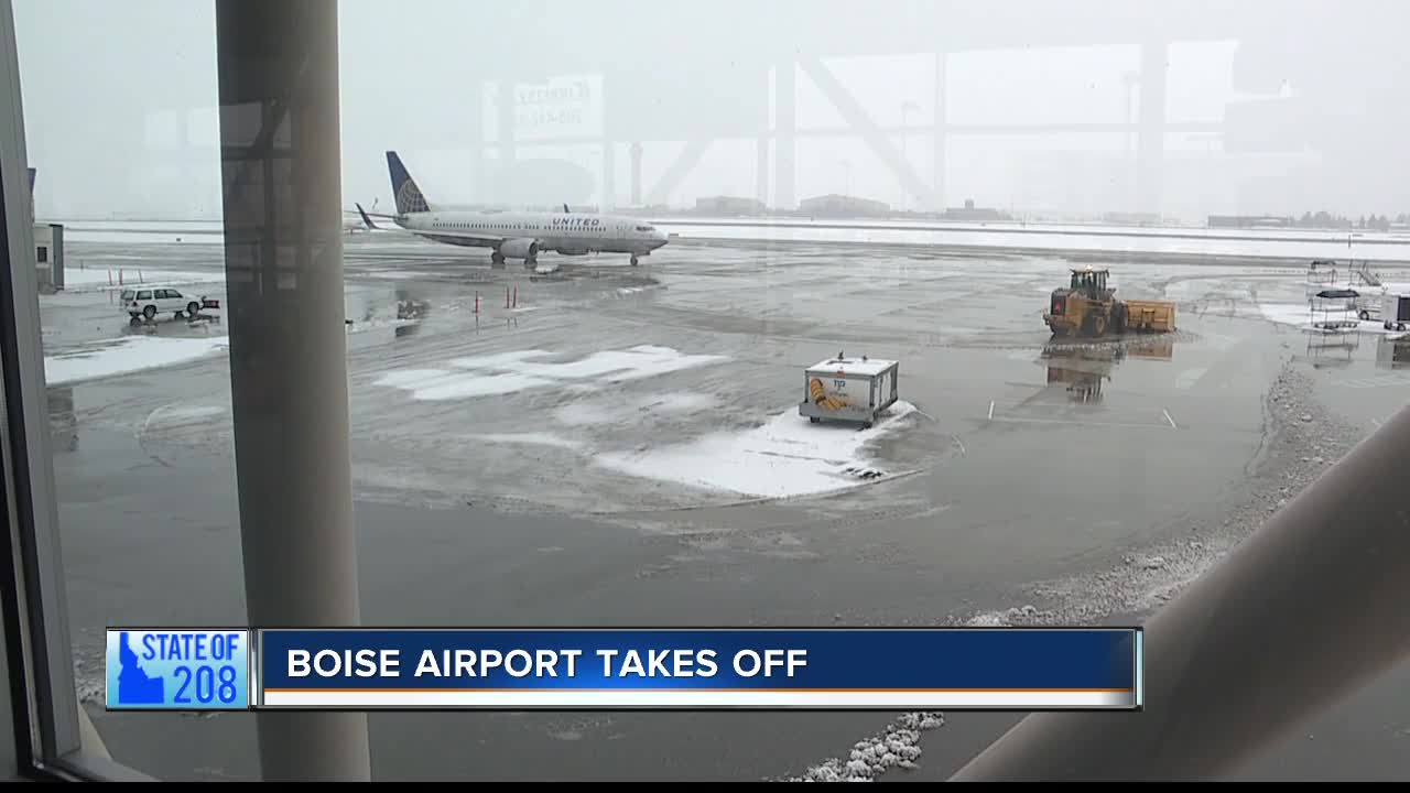
[[[140, 262], [144, 282], [224, 299], [217, 246], [70, 246], [85, 268], [124, 262], [124, 282]], [[640, 268], [565, 261], [536, 279], [431, 244], [345, 243], [367, 621], [926, 625], [1022, 604], [1062, 612], [1031, 586], [1220, 525], [1311, 457], [1272, 443], [1269, 394], [1287, 367], [1352, 433], [1410, 394], [1397, 363], [1410, 350], [1387, 337], [1327, 350], [1265, 319], [1261, 301], [1297, 291], [1296, 262], [1112, 264], [1118, 295], [1177, 299], [1180, 330], [1056, 343], [1039, 313], [1066, 281], [1058, 255], [689, 244]], [[41, 299], [48, 356], [224, 333], [216, 320], [131, 329], [102, 278], [89, 281]], [[860, 440], [818, 428], [818, 447], [799, 452], [788, 433], [792, 419], [807, 426], [801, 370], [839, 350], [900, 360], [914, 411]], [[76, 378], [49, 404], [72, 626], [96, 691], [106, 625], [243, 621], [227, 363], [216, 351]], [[1138, 617], [1135, 595], [1076, 611]], [[90, 711], [114, 756], [142, 770], [257, 773], [245, 715]], [[846, 756], [893, 715], [378, 714], [374, 765], [402, 779], [780, 777]], [[1403, 725], [1382, 715], [1318, 728], [1327, 745], [1387, 737], [1369, 744], [1390, 755], [1327, 755], [1327, 768], [1410, 772], [1394, 759], [1403, 737], [1390, 739]], [[1008, 720], [952, 715], [922, 737], [918, 770], [884, 779], [940, 779]], [[1292, 768], [1282, 755], [1261, 763]]]

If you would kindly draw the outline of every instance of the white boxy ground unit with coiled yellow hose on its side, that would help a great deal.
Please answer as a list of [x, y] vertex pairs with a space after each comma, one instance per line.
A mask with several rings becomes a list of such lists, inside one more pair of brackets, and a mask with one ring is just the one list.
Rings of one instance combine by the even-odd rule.
[[812, 423], [828, 419], [871, 426], [897, 401], [900, 365], [866, 356], [819, 361], [804, 371], [798, 413]]

